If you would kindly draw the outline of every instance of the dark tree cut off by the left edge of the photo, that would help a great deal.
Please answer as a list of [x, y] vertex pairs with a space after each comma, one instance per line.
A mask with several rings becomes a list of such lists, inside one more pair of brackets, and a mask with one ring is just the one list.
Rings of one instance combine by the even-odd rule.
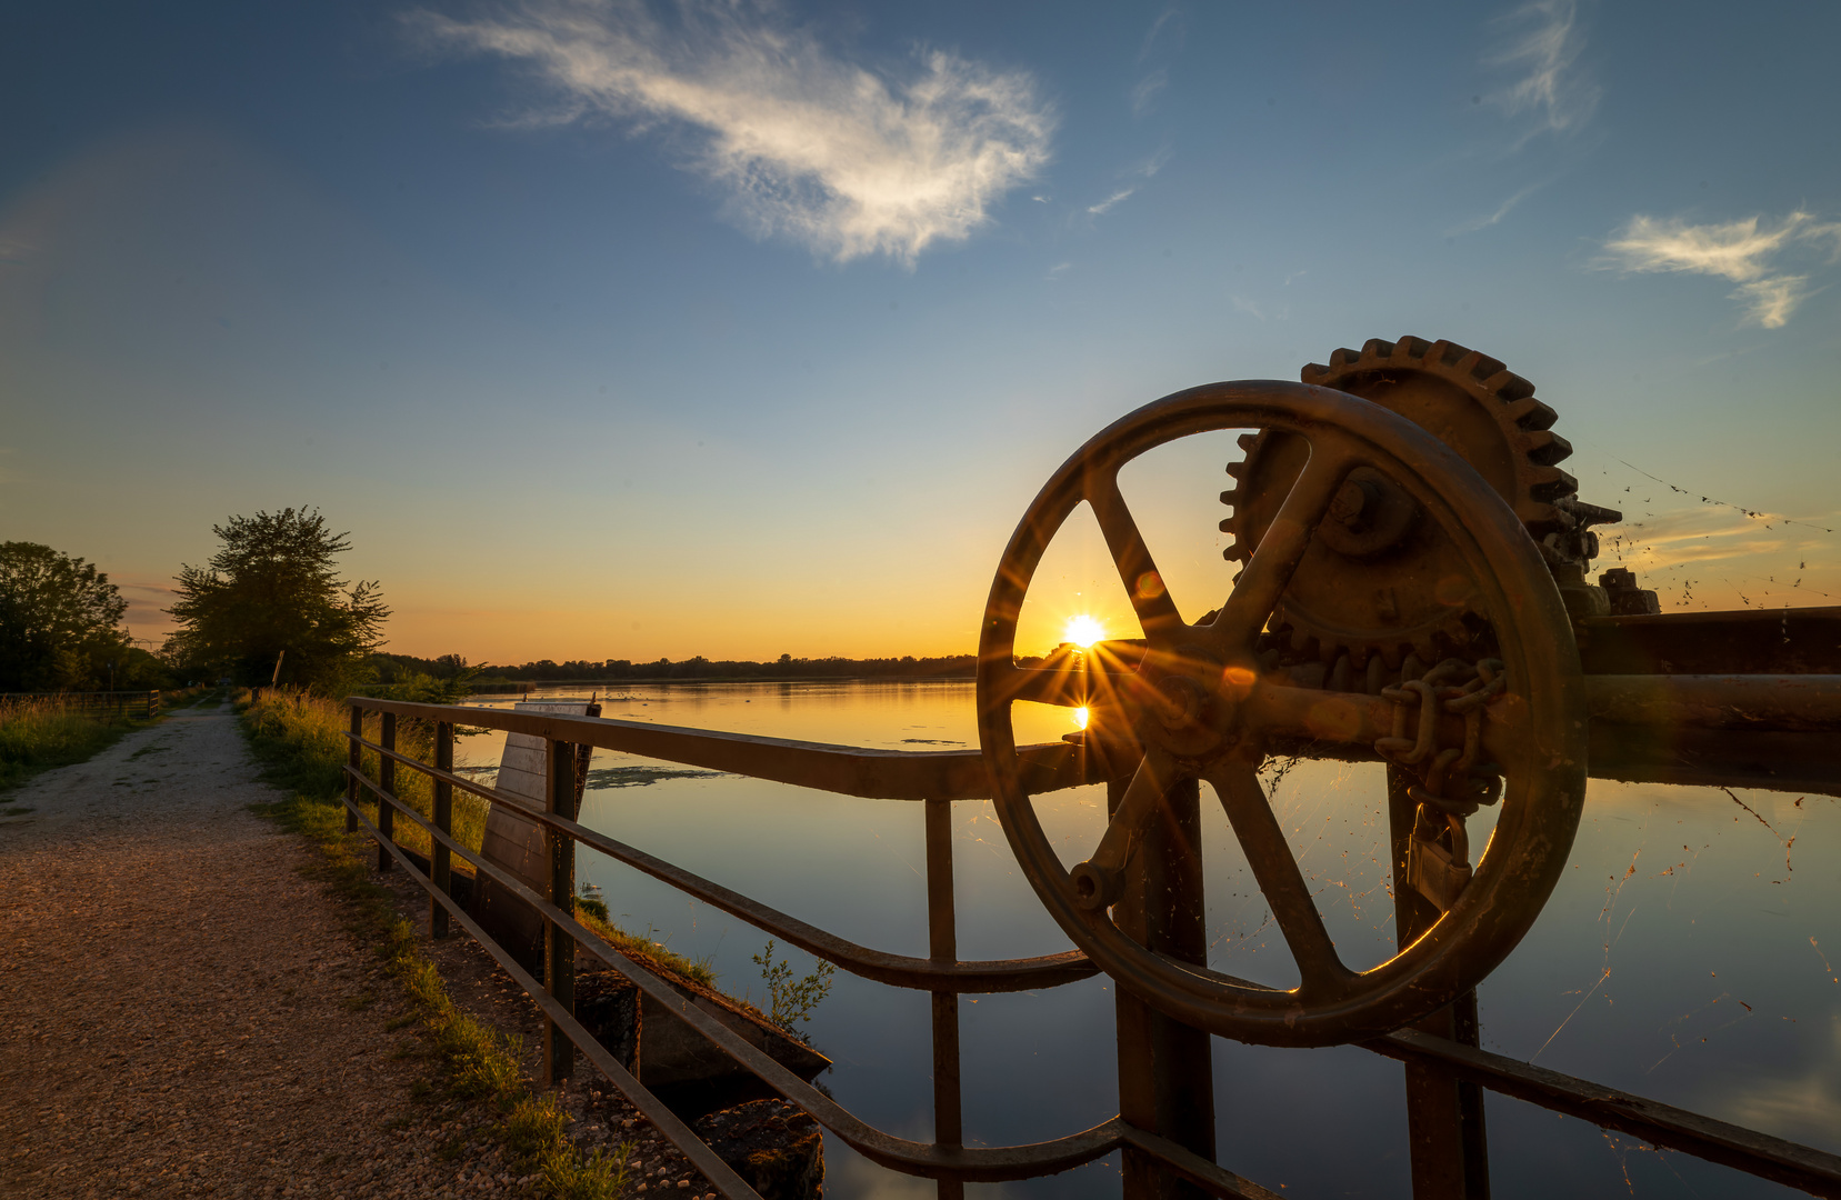
[[0, 541], [0, 690], [105, 681], [127, 652], [127, 600], [109, 576], [35, 541]]

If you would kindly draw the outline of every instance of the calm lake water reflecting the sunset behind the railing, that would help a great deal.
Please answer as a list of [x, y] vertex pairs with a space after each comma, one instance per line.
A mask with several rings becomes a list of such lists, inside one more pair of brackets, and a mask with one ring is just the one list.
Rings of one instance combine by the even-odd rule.
[[[563, 694], [563, 692], [547, 692]], [[567, 694], [582, 694], [569, 690]], [[976, 747], [970, 683], [654, 685], [602, 698], [604, 716], [889, 749]], [[1073, 729], [1016, 707], [1020, 742]], [[499, 736], [464, 738], [495, 764]], [[598, 751], [584, 823], [856, 942], [926, 953], [920, 806], [753, 779], [689, 775]], [[1734, 799], [1736, 797], [1736, 799]], [[1210, 961], [1263, 983], [1291, 959], [1208, 788]], [[1338, 952], [1373, 963], [1394, 944], [1381, 767], [1298, 764], [1274, 802], [1318, 889]], [[1740, 804], [1743, 802], [1743, 806]], [[1036, 801], [1064, 861], [1103, 830], [1099, 788]], [[1749, 808], [1749, 810], [1747, 810]], [[1594, 780], [1570, 867], [1521, 948], [1478, 988], [1486, 1049], [1841, 1152], [1841, 802], [1795, 793]], [[1473, 826], [1476, 823], [1473, 821]], [[1484, 832], [1473, 828], [1473, 845]], [[954, 806], [959, 955], [1068, 950], [1011, 858], [989, 802]], [[619, 924], [692, 959], [727, 990], [764, 994], [766, 935], [584, 850]], [[792, 952], [799, 974], [810, 957]], [[1038, 1141], [1117, 1110], [1105, 977], [961, 1001], [965, 1128], [974, 1145]], [[839, 1102], [904, 1137], [932, 1134], [928, 1007], [919, 992], [836, 975], [810, 1021], [836, 1060]], [[1215, 1040], [1219, 1160], [1300, 1196], [1407, 1196], [1397, 1064], [1362, 1049], [1283, 1051]], [[1488, 1099], [1493, 1191], [1775, 1196], [1789, 1189], [1659, 1154], [1581, 1121]], [[830, 1196], [932, 1196], [830, 1139]], [[1116, 1196], [1117, 1161], [979, 1196]]]

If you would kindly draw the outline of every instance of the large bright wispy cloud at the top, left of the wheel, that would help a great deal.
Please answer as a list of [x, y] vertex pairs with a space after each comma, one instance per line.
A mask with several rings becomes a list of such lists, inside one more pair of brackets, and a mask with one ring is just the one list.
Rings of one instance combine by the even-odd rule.
[[1025, 72], [932, 50], [876, 74], [747, 2], [679, 0], [668, 17], [644, 0], [530, 0], [409, 26], [528, 64], [550, 101], [527, 121], [690, 133], [687, 166], [727, 190], [736, 221], [838, 261], [913, 263], [965, 241], [1049, 160], [1055, 114]]

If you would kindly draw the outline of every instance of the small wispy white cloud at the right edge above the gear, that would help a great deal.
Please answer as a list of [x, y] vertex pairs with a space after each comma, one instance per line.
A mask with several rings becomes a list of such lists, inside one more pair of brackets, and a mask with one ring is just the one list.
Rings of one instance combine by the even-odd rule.
[[1782, 221], [1762, 215], [1723, 225], [1692, 225], [1681, 217], [1629, 219], [1605, 241], [1605, 254], [1594, 265], [1631, 272], [1710, 274], [1738, 283], [1727, 294], [1745, 306], [1745, 318], [1766, 329], [1789, 322], [1813, 287], [1810, 274], [1784, 269], [1780, 260], [1834, 243], [1832, 263], [1841, 252], [1841, 225], [1793, 212]]

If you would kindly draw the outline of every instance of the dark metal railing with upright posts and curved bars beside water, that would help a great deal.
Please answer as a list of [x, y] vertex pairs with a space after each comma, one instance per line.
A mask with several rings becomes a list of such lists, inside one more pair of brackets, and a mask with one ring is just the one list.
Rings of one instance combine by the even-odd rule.
[[[1002, 1182], [1053, 1174], [1094, 1161], [1114, 1150], [1125, 1154], [1125, 1194], [1195, 1194], [1276, 1200], [1268, 1191], [1213, 1161], [1213, 1117], [1202, 1031], [1151, 1012], [1129, 992], [1117, 990], [1119, 1005], [1119, 1108], [1121, 1115], [1094, 1128], [1051, 1141], [1009, 1147], [968, 1147], [963, 1143], [959, 1084], [959, 994], [1014, 992], [1057, 987], [1095, 974], [1081, 952], [1029, 959], [961, 961], [955, 946], [952, 804], [987, 799], [983, 758], [978, 751], [880, 751], [812, 742], [790, 742], [735, 733], [677, 729], [635, 721], [515, 712], [449, 705], [418, 705], [370, 698], [350, 701], [350, 756], [346, 766], [346, 826], [363, 828], [377, 841], [379, 869], [401, 865], [429, 891], [429, 926], [446, 937], [453, 924], [464, 928], [530, 994], [545, 1016], [543, 1071], [554, 1084], [573, 1071], [574, 1051], [593, 1062], [659, 1132], [701, 1171], [716, 1191], [731, 1200], [755, 1198], [747, 1185], [696, 1134], [635, 1079], [574, 1016], [576, 946], [626, 977], [639, 992], [725, 1053], [735, 1064], [808, 1112], [836, 1137], [865, 1158], [913, 1176], [937, 1180], [943, 1198], [961, 1196], [967, 1182]], [[379, 714], [379, 736], [365, 736], [365, 716]], [[398, 721], [427, 721], [434, 729], [433, 762], [398, 751]], [[528, 801], [482, 786], [453, 771], [455, 725], [484, 727], [541, 738], [547, 747], [549, 788], [543, 810]], [[922, 810], [926, 839], [928, 957], [908, 957], [860, 946], [817, 926], [768, 907], [749, 896], [666, 863], [644, 850], [591, 830], [576, 821], [573, 764], [576, 747], [622, 751], [716, 771], [749, 775], [821, 791], [865, 799], [915, 801]], [[363, 753], [377, 756], [376, 779], [363, 771]], [[1018, 751], [1031, 793], [1099, 782], [1081, 747], [1062, 744], [1031, 745]], [[423, 817], [396, 795], [396, 767], [433, 780], [433, 817]], [[1110, 791], [1121, 784], [1108, 782]], [[462, 790], [493, 804], [512, 804], [541, 825], [549, 845], [549, 887], [528, 887], [512, 872], [486, 861], [455, 841], [451, 832], [453, 793]], [[377, 801], [377, 819], [359, 808], [359, 793]], [[1114, 797], [1116, 799], [1116, 797]], [[429, 871], [420, 871], [394, 841], [394, 821], [401, 813], [431, 839]], [[836, 966], [889, 987], [932, 994], [933, 1042], [933, 1139], [911, 1141], [887, 1134], [851, 1113], [832, 1097], [793, 1075], [768, 1053], [757, 1049], [733, 1029], [683, 999], [665, 979], [633, 963], [574, 918], [574, 848], [585, 845], [635, 871], [650, 874], [677, 891], [736, 917], [771, 937], [834, 963]], [[541, 979], [493, 940], [451, 894], [453, 858], [471, 863], [477, 876], [490, 878], [543, 917], [545, 946]], [[1423, 1025], [1423, 1023], [1421, 1023]], [[1152, 1053], [1187, 1036], [1200, 1040], [1198, 1067], [1182, 1064], [1182, 1055]], [[1162, 1042], [1160, 1042], [1162, 1038]], [[1659, 1148], [1681, 1150], [1708, 1161], [1762, 1176], [1817, 1196], [1841, 1198], [1841, 1156], [1771, 1137], [1751, 1128], [1703, 1117], [1627, 1091], [1561, 1075], [1528, 1062], [1495, 1055], [1462, 1040], [1434, 1036], [1423, 1029], [1401, 1029], [1360, 1044], [1377, 1055], [1401, 1060], [1408, 1069], [1408, 1115], [1416, 1136], [1421, 1132], [1453, 1147], [1465, 1137], [1482, 1137], [1480, 1121], [1465, 1126], [1465, 1104], [1449, 1102], [1469, 1093], [1480, 1113], [1480, 1090], [1581, 1117], [1592, 1125], [1620, 1130]], [[1143, 1049], [1143, 1053], [1140, 1053]], [[1418, 1082], [1416, 1082], [1418, 1080]], [[1460, 1091], [1462, 1090], [1462, 1091]], [[1443, 1095], [1445, 1101], [1438, 1097]], [[1193, 1110], [1208, 1113], [1208, 1128], [1178, 1112], [1184, 1097]], [[1158, 1113], [1165, 1113], [1160, 1117]], [[1462, 1154], [1458, 1156], [1462, 1161]], [[1473, 1161], [1480, 1161], [1476, 1156]], [[1484, 1182], [1484, 1187], [1488, 1183]], [[1476, 1182], [1462, 1171], [1445, 1182], [1416, 1183], [1416, 1200], [1464, 1198], [1476, 1194]]]

